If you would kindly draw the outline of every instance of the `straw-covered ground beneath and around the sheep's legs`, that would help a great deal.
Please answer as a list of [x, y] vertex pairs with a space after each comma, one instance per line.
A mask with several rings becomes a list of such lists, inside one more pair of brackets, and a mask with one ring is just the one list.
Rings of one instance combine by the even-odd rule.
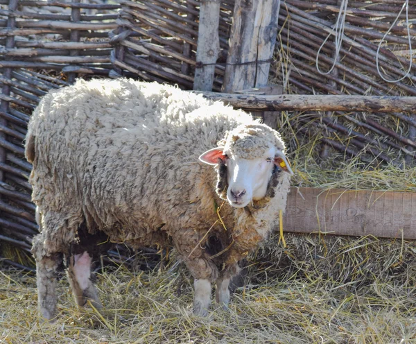
[[[98, 273], [102, 315], [79, 311], [67, 279], [60, 316], [37, 318], [35, 277], [0, 270], [0, 343], [416, 343], [416, 248], [407, 241], [286, 234], [245, 264], [229, 311], [191, 312], [171, 259], [151, 272]], [[174, 256], [174, 254], [173, 254]]]

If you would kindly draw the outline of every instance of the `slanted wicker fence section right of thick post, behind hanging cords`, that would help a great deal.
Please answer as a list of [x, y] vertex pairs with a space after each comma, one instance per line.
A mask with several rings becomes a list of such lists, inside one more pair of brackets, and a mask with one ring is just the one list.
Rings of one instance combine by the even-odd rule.
[[[349, 1], [342, 46], [336, 58], [333, 36], [324, 40], [340, 14], [340, 1], [286, 0], [279, 15], [277, 61], [271, 78], [283, 84], [287, 93], [415, 96], [416, 65], [410, 64], [409, 35], [411, 39], [416, 33], [411, 28], [416, 3], [410, 1], [408, 22], [403, 3]], [[317, 55], [322, 73], [330, 70], [336, 58], [331, 73], [318, 72]], [[387, 81], [399, 80], [407, 71], [403, 80]], [[330, 146], [367, 163], [414, 164], [414, 114], [313, 113], [293, 124], [308, 137], [322, 137], [324, 157]]]

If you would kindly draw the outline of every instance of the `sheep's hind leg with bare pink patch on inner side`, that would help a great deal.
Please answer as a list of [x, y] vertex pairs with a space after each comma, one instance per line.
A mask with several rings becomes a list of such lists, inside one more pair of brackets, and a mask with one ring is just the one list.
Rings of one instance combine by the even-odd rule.
[[88, 300], [96, 309], [103, 306], [98, 299], [98, 293], [91, 280], [92, 257], [87, 251], [80, 255], [73, 255], [69, 258], [68, 277], [76, 304], [85, 307]]

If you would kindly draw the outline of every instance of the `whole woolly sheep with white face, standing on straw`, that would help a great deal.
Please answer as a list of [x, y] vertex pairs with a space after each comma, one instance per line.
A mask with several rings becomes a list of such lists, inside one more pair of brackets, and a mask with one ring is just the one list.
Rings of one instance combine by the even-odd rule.
[[286, 206], [284, 150], [250, 114], [173, 86], [78, 80], [46, 94], [25, 144], [40, 315], [56, 316], [64, 258], [78, 306], [101, 309], [91, 266], [103, 242], [173, 245], [194, 278], [194, 312], [207, 315], [212, 282], [226, 308], [239, 261]]

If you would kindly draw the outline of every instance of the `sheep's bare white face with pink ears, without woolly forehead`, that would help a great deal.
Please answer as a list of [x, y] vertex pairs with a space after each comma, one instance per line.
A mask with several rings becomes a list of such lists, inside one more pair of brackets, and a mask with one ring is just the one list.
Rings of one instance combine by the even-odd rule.
[[207, 150], [200, 156], [200, 161], [227, 166], [227, 200], [236, 208], [243, 208], [252, 200], [260, 200], [266, 196], [268, 183], [276, 166], [293, 175], [284, 153], [275, 147], [270, 147], [263, 156], [250, 160], [228, 156], [223, 153], [223, 148], [218, 147]]

